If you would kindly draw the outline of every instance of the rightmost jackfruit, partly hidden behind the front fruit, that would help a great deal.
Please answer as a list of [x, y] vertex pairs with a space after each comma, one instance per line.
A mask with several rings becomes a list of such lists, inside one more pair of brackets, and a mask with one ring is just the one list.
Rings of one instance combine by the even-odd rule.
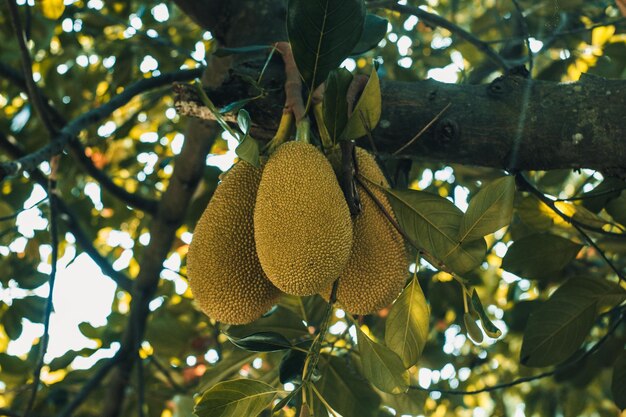
[[[372, 184], [389, 186], [374, 157], [357, 147], [356, 163], [363, 183], [395, 219], [387, 196]], [[402, 235], [360, 184], [357, 190], [361, 212], [353, 219], [354, 244], [339, 278], [337, 304], [351, 314], [371, 314], [391, 304], [402, 292], [409, 263]], [[330, 292], [328, 288], [322, 295], [328, 299]]]

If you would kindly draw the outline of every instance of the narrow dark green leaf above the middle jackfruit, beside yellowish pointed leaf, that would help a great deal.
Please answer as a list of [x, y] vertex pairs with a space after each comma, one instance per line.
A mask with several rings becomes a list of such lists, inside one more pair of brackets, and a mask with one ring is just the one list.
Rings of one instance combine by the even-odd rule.
[[343, 133], [348, 123], [348, 102], [346, 94], [352, 82], [352, 73], [344, 68], [332, 70], [326, 80], [324, 90], [324, 125], [333, 143]]

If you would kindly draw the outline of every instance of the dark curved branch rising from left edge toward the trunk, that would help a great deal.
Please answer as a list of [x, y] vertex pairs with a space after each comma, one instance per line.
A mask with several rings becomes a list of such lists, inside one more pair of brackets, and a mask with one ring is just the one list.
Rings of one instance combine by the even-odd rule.
[[142, 79], [131, 84], [121, 94], [113, 97], [110, 101], [90, 110], [76, 119], [70, 121], [53, 141], [40, 148], [39, 150], [18, 159], [17, 161], [0, 163], [0, 181], [9, 175], [16, 175], [26, 170], [32, 171], [41, 162], [50, 159], [54, 155], [63, 152], [63, 149], [69, 141], [77, 136], [83, 129], [105, 119], [115, 110], [127, 104], [133, 97], [147, 90], [171, 84], [175, 81], [189, 81], [200, 76], [204, 68], [195, 68], [190, 70], [180, 70], [171, 73], [162, 74], [152, 78]]

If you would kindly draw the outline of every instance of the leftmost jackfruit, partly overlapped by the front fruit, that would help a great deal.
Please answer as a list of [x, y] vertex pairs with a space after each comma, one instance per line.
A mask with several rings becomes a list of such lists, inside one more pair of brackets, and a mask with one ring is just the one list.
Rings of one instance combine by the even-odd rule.
[[237, 163], [216, 188], [189, 245], [189, 287], [200, 309], [219, 322], [250, 323], [280, 295], [265, 276], [254, 244], [260, 180], [260, 168]]

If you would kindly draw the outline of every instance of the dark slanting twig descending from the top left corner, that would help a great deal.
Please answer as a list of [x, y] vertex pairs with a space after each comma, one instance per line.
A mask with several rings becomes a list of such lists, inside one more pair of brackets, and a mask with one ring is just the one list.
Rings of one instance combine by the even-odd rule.
[[30, 52], [28, 50], [28, 46], [26, 45], [26, 37], [24, 34], [24, 28], [22, 27], [20, 14], [17, 9], [17, 3], [15, 2], [15, 0], [8, 0], [7, 3], [9, 6], [9, 14], [11, 16], [9, 20], [11, 21], [11, 24], [13, 26], [13, 31], [15, 32], [15, 37], [17, 38], [17, 43], [20, 49], [22, 70], [24, 71], [24, 79], [26, 81], [26, 91], [28, 93], [28, 98], [30, 98], [33, 109], [41, 119], [46, 129], [50, 132], [53, 132], [55, 131], [55, 127], [45, 110], [43, 98], [41, 97], [41, 94], [39, 94], [39, 89], [37, 88], [35, 80], [33, 79], [33, 67], [30, 58]]

